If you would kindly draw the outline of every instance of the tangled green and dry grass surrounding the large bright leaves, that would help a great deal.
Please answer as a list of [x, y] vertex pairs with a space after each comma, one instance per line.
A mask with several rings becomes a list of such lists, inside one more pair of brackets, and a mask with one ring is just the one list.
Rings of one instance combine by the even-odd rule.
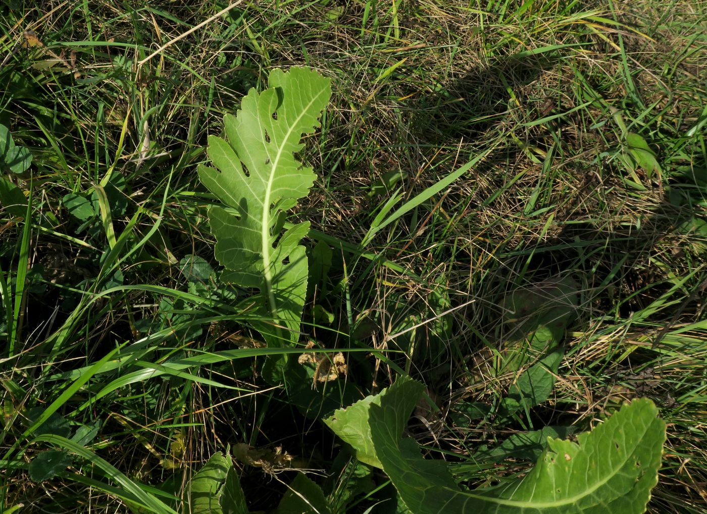
[[[230, 445], [250, 510], [392, 512], [320, 420], [410, 376], [405, 433], [469, 489], [648, 397], [648, 512], [702, 512], [703, 4], [227, 6], [0, 7], [0, 124], [26, 149], [0, 141], [2, 510], [179, 510], [206, 462], [233, 483]], [[197, 174], [293, 66], [332, 85], [279, 227], [310, 223], [298, 328], [223, 276]]]

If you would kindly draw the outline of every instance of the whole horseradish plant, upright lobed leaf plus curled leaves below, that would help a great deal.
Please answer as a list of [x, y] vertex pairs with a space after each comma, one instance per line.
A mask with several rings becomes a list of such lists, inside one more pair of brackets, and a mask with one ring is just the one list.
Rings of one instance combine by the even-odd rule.
[[[237, 114], [226, 115], [226, 137], [209, 138], [214, 167], [199, 167], [201, 182], [224, 204], [209, 210], [216, 259], [226, 269], [222, 278], [257, 290], [250, 298], [254, 314], [266, 321], [256, 320], [253, 327], [268, 346], [298, 344], [308, 281], [301, 240], [309, 223], [285, 230], [284, 221], [315, 180], [312, 168], [298, 162], [296, 153], [303, 148], [303, 134], [319, 127], [330, 95], [329, 79], [315, 71], [273, 71], [267, 90], [250, 90]], [[285, 363], [284, 356], [275, 361], [266, 373], [269, 380], [282, 378]], [[590, 433], [580, 434], [576, 442], [547, 438], [537, 465], [524, 476], [496, 487], [463, 490], [445, 462], [424, 460], [414, 440], [402, 438], [422, 394], [419, 382], [400, 377], [379, 395], [324, 420], [361, 462], [390, 477], [412, 513], [638, 514], [658, 481], [665, 424], [655, 406], [640, 399]], [[190, 507], [246, 513], [230, 455], [214, 455], [209, 466], [220, 471], [194, 476], [189, 487], [201, 503]], [[197, 489], [208, 493], [200, 495]], [[322, 491], [309, 479], [298, 477], [291, 491], [296, 494], [286, 495], [278, 512], [330, 511]]]

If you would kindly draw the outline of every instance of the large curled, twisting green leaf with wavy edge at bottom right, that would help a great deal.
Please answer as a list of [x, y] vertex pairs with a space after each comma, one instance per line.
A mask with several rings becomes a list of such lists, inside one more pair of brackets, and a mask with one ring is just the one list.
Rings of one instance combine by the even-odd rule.
[[[444, 462], [424, 460], [411, 438], [401, 439], [421, 385], [402, 378], [376, 402], [347, 414], [368, 419], [370, 446], [414, 514], [638, 514], [658, 481], [665, 424], [653, 402], [637, 399], [604, 424], [570, 440], [548, 438], [548, 448], [524, 477], [489, 489], [462, 491]], [[366, 411], [366, 412], [364, 412]], [[331, 426], [331, 424], [330, 424]], [[332, 426], [339, 433], [341, 426]], [[351, 438], [349, 437], [349, 441]], [[358, 448], [356, 448], [358, 450]], [[363, 448], [367, 452], [368, 448]]]

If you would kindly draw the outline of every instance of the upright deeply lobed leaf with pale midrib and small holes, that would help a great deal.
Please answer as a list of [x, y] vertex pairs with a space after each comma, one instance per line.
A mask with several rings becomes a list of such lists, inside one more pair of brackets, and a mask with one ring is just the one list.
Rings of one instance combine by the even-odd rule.
[[307, 291], [308, 264], [300, 240], [309, 222], [283, 233], [284, 214], [315, 180], [312, 168], [294, 154], [303, 148], [303, 134], [319, 127], [330, 96], [329, 79], [313, 70], [272, 71], [267, 90], [251, 89], [237, 114], [224, 117], [227, 139], [209, 137], [216, 169], [199, 166], [201, 182], [238, 212], [209, 210], [216, 259], [229, 270], [222, 279], [258, 288], [266, 312], [293, 332], [299, 329]]

